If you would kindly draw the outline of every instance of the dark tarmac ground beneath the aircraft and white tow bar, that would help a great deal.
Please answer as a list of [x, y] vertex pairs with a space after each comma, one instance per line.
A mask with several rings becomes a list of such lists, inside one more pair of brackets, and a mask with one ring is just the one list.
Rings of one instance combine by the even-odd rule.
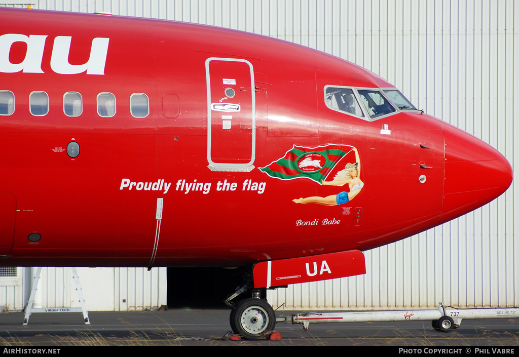
[[[229, 309], [89, 312], [83, 315], [23, 312], [0, 314], [0, 345], [30, 346], [516, 346], [519, 319], [463, 320], [450, 333], [434, 331], [430, 321], [310, 324], [278, 323], [282, 340], [227, 340]], [[284, 311], [284, 315], [299, 313]], [[278, 312], [277, 315], [280, 315]], [[5, 353], [5, 351], [4, 351]]]

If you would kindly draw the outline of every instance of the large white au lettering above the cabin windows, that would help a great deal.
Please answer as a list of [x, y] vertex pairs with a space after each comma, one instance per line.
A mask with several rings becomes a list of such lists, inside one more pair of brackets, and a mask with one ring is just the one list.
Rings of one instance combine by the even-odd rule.
[[[4, 73], [44, 73], [42, 70], [43, 51], [47, 35], [5, 34], [0, 36], [0, 72]], [[54, 38], [50, 68], [59, 74], [87, 74], [104, 75], [108, 42], [110, 38], [95, 37], [90, 47], [90, 57], [84, 64], [70, 64], [69, 52], [71, 36], [57, 36]], [[27, 45], [25, 58], [20, 63], [11, 63], [9, 54], [15, 42], [24, 42]]]

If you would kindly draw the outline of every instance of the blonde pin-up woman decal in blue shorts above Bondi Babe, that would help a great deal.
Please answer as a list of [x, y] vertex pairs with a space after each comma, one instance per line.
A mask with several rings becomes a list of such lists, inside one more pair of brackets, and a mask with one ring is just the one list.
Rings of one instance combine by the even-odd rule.
[[348, 184], [350, 187], [349, 192], [341, 192], [337, 195], [330, 195], [326, 197], [312, 196], [306, 198], [297, 198], [293, 200], [295, 203], [317, 203], [327, 206], [334, 206], [338, 204], [344, 204], [355, 198], [364, 187], [364, 183], [360, 179], [360, 158], [357, 148], [352, 149], [355, 153], [355, 163], [347, 163], [344, 170], [337, 172], [333, 181], [322, 181], [323, 185], [332, 186], [344, 186]]

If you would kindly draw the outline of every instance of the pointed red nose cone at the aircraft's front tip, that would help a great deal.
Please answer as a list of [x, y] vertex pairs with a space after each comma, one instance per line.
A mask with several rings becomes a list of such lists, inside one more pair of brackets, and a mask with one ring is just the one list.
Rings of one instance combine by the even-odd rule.
[[445, 125], [445, 180], [441, 223], [500, 196], [512, 183], [510, 163], [490, 145]]

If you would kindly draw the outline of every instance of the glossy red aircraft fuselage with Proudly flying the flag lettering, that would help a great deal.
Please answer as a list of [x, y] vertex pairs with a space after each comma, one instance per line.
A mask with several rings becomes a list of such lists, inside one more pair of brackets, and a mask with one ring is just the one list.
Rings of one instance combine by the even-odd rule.
[[512, 181], [497, 150], [316, 50], [171, 21], [15, 9], [0, 20], [2, 265], [364, 251]]

